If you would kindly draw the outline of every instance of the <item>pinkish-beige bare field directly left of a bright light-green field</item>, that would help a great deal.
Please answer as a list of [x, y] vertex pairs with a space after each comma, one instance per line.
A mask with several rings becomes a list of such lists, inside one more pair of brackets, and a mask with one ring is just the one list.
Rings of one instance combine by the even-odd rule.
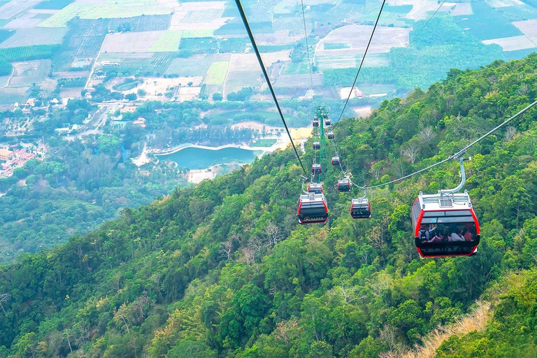
[[127, 32], [107, 35], [101, 52], [149, 52], [165, 31]]

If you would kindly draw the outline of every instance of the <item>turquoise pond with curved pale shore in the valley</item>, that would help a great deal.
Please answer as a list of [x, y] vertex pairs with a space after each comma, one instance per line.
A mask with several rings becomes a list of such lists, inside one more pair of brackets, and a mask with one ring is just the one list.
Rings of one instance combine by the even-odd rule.
[[216, 164], [228, 164], [231, 162], [251, 163], [261, 154], [261, 150], [241, 148], [209, 150], [187, 147], [169, 155], [159, 155], [158, 158], [159, 160], [176, 162], [180, 169], [206, 169]]

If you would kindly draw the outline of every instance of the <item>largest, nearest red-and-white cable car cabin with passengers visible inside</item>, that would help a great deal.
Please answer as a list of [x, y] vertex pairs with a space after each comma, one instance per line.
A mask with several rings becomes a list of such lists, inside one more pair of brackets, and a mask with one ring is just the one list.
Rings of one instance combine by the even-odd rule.
[[479, 222], [468, 192], [420, 192], [410, 216], [420, 257], [471, 256], [477, 252], [481, 238]]

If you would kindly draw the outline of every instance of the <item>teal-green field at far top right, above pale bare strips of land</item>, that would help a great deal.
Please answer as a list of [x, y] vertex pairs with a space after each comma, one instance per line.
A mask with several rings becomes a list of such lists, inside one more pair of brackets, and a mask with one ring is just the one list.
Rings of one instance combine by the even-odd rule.
[[505, 15], [485, 3], [473, 2], [472, 10], [473, 15], [453, 18], [460, 27], [468, 28], [468, 31], [480, 40], [522, 35]]

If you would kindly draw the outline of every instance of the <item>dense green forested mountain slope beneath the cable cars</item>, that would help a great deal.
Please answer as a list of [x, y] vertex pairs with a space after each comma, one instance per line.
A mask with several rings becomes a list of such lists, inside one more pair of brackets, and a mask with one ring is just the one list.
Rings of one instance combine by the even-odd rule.
[[[427, 92], [339, 124], [341, 157], [359, 184], [432, 164], [534, 101], [536, 69], [534, 54], [451, 71]], [[439, 352], [535, 356], [535, 341], [516, 340], [536, 335], [536, 113], [468, 152], [482, 235], [475, 257], [419, 259], [410, 232], [413, 199], [456, 185], [455, 162], [375, 189], [371, 220], [350, 218], [330, 169], [329, 224], [301, 227], [301, 169], [286, 150], [0, 266], [0, 355], [376, 357], [419, 344], [522, 270], [526, 279], [496, 307], [501, 333], [453, 338]]]

